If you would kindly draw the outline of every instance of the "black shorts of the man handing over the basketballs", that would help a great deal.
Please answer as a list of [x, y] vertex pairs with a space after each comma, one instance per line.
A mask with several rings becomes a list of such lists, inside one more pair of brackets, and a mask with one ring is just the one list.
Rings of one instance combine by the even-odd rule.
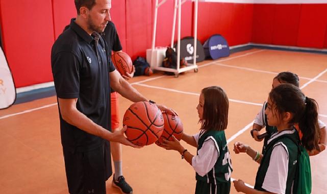
[[108, 141], [91, 151], [63, 152], [69, 193], [106, 193], [106, 180], [112, 175]]

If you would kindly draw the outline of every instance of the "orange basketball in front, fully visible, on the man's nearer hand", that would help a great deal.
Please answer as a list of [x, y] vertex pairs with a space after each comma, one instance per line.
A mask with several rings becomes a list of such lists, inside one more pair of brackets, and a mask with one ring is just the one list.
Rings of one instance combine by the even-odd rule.
[[127, 139], [139, 146], [157, 141], [164, 128], [160, 109], [149, 102], [132, 104], [125, 112], [122, 124], [127, 125]]

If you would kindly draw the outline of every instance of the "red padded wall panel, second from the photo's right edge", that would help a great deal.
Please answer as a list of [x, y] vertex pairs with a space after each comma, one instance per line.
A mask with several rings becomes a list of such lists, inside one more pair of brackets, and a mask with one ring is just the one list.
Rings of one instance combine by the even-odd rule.
[[272, 44], [296, 45], [301, 5], [274, 6]]

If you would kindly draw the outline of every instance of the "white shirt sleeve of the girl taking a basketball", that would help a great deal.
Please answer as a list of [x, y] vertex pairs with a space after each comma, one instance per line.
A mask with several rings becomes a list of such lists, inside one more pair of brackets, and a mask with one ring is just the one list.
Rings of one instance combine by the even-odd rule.
[[200, 150], [198, 155], [192, 158], [192, 166], [195, 172], [200, 176], [205, 176], [215, 165], [219, 156], [219, 147], [213, 137], [208, 137]]

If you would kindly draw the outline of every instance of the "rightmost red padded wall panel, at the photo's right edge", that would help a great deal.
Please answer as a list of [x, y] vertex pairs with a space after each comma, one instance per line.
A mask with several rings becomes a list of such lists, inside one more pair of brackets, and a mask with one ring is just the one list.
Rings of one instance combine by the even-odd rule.
[[327, 29], [327, 4], [301, 5], [297, 46], [322, 48]]

